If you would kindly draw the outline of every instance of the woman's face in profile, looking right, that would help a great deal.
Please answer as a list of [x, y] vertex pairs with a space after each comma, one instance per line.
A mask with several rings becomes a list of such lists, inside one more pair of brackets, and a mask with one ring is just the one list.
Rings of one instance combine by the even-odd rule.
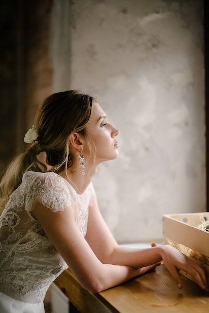
[[117, 135], [119, 130], [107, 121], [107, 116], [97, 102], [93, 102], [91, 116], [86, 127], [88, 135], [96, 147], [98, 163], [118, 157]]

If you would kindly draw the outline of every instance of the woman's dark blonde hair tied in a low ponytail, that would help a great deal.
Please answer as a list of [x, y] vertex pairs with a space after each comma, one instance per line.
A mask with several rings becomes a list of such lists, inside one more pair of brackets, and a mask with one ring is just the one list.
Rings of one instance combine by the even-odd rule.
[[80, 132], [86, 137], [85, 128], [93, 101], [96, 99], [78, 90], [54, 93], [45, 99], [35, 121], [38, 139], [11, 162], [1, 179], [0, 213], [11, 193], [21, 184], [26, 171], [47, 171], [47, 166], [37, 158], [40, 152], [46, 153], [46, 163], [51, 166], [49, 171], [72, 166], [68, 137], [73, 132]]

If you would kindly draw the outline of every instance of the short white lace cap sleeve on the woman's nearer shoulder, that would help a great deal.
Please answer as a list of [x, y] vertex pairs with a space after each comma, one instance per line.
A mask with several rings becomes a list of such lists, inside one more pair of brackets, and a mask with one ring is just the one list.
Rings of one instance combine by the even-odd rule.
[[25, 178], [25, 209], [31, 211], [37, 202], [50, 208], [53, 212], [71, 208], [71, 194], [62, 177], [50, 173], [34, 173]]

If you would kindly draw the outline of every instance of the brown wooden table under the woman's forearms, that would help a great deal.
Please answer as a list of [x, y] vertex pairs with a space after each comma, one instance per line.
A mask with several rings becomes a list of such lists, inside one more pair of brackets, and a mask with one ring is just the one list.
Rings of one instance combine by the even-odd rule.
[[182, 279], [184, 285], [179, 290], [166, 267], [160, 265], [154, 271], [97, 294], [84, 290], [70, 270], [64, 271], [55, 283], [82, 313], [208, 313], [209, 293], [186, 277]]

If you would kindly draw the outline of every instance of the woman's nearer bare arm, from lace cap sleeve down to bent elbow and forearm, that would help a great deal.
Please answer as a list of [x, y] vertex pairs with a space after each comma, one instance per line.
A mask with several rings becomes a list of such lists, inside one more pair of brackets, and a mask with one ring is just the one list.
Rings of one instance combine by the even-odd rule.
[[85, 289], [100, 292], [141, 274], [131, 266], [103, 264], [80, 233], [72, 210], [54, 213], [37, 203], [32, 215]]

